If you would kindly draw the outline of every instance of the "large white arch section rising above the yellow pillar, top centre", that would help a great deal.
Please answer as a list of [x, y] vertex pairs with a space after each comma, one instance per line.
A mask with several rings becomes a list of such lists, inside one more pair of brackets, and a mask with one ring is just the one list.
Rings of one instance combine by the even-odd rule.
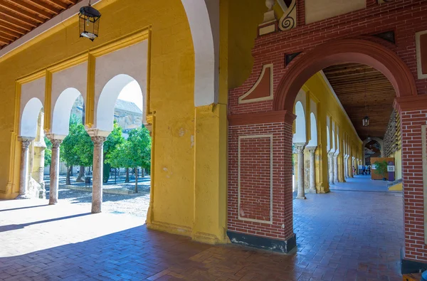
[[181, 0], [194, 46], [194, 105], [218, 102], [219, 0]]

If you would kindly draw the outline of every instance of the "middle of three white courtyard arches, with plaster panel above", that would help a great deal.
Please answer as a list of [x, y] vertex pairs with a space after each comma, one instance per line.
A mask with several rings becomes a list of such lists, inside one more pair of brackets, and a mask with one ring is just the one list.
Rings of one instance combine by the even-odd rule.
[[88, 62], [52, 74], [51, 134], [66, 136], [75, 99], [86, 103]]

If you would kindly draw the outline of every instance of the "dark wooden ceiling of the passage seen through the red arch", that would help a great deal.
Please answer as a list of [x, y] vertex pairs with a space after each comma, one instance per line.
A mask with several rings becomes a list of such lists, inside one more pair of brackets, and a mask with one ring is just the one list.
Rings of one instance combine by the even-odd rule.
[[[339, 101], [347, 111], [359, 137], [383, 138], [386, 133], [396, 92], [378, 70], [359, 63], [332, 65], [323, 70]], [[368, 106], [368, 110], [366, 109]], [[363, 127], [362, 119], [370, 124]]]

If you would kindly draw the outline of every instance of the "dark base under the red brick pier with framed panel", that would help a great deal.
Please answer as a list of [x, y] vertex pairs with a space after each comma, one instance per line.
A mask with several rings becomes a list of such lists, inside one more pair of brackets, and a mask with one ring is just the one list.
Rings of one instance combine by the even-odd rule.
[[244, 233], [227, 231], [231, 243], [253, 247], [273, 252], [292, 254], [297, 250], [297, 236], [295, 233], [286, 240], [276, 240], [273, 238], [259, 237]]

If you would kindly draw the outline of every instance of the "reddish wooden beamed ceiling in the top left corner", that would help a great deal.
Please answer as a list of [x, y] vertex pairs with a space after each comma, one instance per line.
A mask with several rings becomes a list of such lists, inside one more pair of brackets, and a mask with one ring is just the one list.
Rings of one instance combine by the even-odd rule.
[[0, 49], [80, 0], [0, 0]]

